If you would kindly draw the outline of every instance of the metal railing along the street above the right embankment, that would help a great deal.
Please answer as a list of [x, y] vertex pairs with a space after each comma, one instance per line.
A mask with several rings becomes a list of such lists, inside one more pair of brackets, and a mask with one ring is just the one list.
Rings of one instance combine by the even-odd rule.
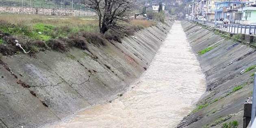
[[204, 20], [193, 20], [193, 21], [198, 22], [200, 24], [204, 24], [212, 28], [218, 28], [220, 30], [223, 30], [229, 33], [256, 35], [256, 25], [223, 24], [223, 23], [215, 24], [215, 22], [204, 21]]

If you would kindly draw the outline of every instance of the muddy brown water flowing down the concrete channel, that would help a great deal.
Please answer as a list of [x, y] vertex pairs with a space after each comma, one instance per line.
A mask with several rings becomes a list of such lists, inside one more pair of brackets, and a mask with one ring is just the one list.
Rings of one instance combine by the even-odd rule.
[[200, 65], [175, 22], [148, 70], [122, 97], [51, 128], [175, 128], [204, 91]]

